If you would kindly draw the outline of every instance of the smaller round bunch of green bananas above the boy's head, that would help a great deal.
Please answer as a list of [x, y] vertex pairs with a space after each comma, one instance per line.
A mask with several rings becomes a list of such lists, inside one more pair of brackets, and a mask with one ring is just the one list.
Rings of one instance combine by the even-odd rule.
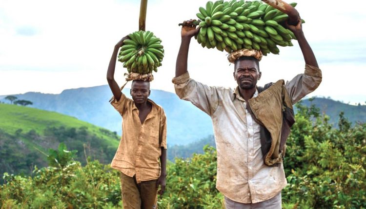
[[157, 72], [164, 57], [162, 40], [150, 31], [136, 31], [128, 37], [130, 39], [123, 41], [118, 61], [123, 62], [123, 67], [127, 68], [128, 73]]

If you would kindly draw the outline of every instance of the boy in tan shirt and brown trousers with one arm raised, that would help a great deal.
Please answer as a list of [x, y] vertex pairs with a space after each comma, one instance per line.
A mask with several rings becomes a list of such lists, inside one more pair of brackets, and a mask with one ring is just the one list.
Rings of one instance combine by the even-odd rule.
[[114, 47], [107, 71], [114, 96], [110, 103], [123, 118], [121, 142], [111, 167], [121, 171], [124, 209], [156, 209], [157, 193], [165, 189], [166, 117], [163, 108], [147, 98], [149, 81], [134, 80], [129, 99], [114, 80], [118, 50], [126, 38]]

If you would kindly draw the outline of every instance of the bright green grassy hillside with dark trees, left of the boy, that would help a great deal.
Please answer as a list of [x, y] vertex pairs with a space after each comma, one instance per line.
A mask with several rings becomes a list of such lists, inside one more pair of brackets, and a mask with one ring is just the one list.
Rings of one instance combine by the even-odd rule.
[[47, 165], [48, 149], [64, 142], [85, 154], [110, 163], [120, 137], [113, 132], [74, 117], [17, 105], [0, 104], [0, 175], [3, 172], [31, 174], [35, 165]]

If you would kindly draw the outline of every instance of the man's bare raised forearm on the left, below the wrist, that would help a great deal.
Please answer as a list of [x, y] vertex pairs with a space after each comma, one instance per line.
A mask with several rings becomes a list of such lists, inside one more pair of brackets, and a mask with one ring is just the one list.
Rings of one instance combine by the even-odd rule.
[[181, 76], [188, 71], [187, 61], [190, 42], [191, 38], [182, 38], [181, 47], [179, 48], [177, 63], [175, 67], [175, 77]]

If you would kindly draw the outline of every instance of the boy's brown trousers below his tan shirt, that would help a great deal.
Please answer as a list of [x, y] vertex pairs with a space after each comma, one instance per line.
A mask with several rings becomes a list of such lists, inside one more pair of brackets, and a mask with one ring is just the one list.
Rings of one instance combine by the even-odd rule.
[[121, 172], [123, 209], [157, 209], [156, 181], [142, 181]]

